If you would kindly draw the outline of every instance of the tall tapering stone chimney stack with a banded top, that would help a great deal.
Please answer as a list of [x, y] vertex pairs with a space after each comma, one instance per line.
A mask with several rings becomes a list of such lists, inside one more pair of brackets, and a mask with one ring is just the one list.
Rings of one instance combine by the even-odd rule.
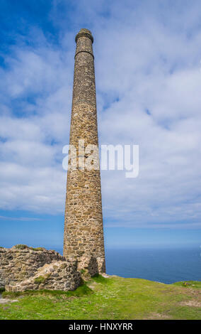
[[[76, 35], [74, 90], [71, 109], [70, 144], [78, 152], [79, 139], [98, 146], [96, 85], [91, 31]], [[87, 159], [88, 155], [77, 157]], [[98, 156], [97, 156], [98, 159]], [[99, 163], [99, 160], [97, 161]], [[96, 165], [96, 162], [94, 163]], [[68, 170], [64, 221], [64, 257], [96, 258], [100, 272], [105, 271], [103, 216], [100, 171]]]

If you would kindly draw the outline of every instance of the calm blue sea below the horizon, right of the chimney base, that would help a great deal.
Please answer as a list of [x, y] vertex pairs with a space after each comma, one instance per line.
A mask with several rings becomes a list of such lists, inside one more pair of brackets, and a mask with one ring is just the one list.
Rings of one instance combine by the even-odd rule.
[[[62, 254], [62, 249], [55, 249]], [[165, 284], [201, 281], [201, 248], [105, 249], [106, 273]]]

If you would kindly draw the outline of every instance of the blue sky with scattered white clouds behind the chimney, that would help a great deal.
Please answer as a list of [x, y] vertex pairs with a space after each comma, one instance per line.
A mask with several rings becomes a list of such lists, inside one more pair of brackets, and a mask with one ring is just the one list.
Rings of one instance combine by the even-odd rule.
[[200, 0], [1, 0], [0, 244], [62, 248], [74, 36], [94, 37], [106, 247], [201, 244]]

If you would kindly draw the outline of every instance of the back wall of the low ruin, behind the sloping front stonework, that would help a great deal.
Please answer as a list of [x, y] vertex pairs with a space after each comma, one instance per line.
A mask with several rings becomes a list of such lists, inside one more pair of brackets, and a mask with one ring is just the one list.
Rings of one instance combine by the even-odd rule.
[[34, 250], [25, 245], [0, 248], [0, 288], [34, 276], [38, 268], [53, 261], [65, 259], [54, 250], [45, 248]]

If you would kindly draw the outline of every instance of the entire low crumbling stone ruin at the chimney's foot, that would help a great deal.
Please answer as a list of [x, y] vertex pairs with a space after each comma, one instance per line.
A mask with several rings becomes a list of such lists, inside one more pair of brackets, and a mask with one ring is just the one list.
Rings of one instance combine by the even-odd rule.
[[0, 248], [0, 289], [6, 291], [74, 290], [96, 274], [98, 261], [91, 255], [78, 262], [45, 248]]

